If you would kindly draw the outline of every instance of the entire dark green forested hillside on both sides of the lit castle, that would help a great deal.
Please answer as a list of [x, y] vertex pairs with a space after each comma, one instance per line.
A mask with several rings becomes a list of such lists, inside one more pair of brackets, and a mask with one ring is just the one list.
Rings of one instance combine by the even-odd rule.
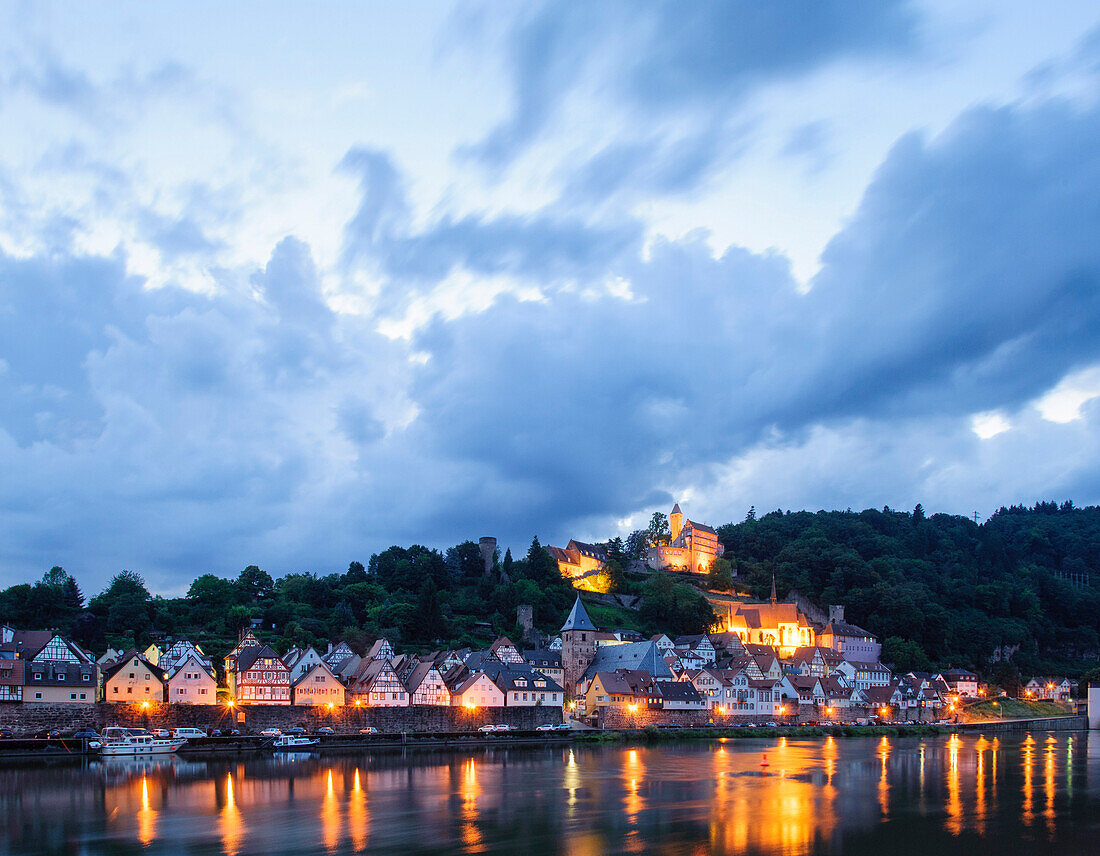
[[[649, 530], [607, 542], [606, 588], [642, 601], [638, 612], [592, 604], [603, 624], [648, 635], [697, 633], [713, 621], [682, 578], [625, 572], [648, 542], [667, 537], [664, 528], [658, 514]], [[737, 589], [766, 597], [774, 574], [780, 596], [796, 590], [822, 606], [844, 604], [900, 669], [967, 666], [1011, 684], [1019, 672], [1078, 676], [1098, 665], [1100, 508], [1002, 508], [980, 526], [925, 516], [920, 506], [750, 513], [718, 534]], [[716, 562], [706, 584], [728, 589], [729, 566]], [[362, 649], [380, 635], [427, 649], [515, 634], [521, 603], [552, 633], [573, 596], [536, 538], [526, 556], [506, 552], [488, 572], [472, 541], [447, 550], [392, 547], [340, 573], [273, 579], [254, 566], [235, 579], [206, 573], [183, 597], [154, 596], [139, 573], [122, 571], [86, 603], [77, 581], [54, 568], [0, 592], [0, 622], [56, 628], [97, 652], [187, 636], [218, 657], [253, 619], [279, 650], [341, 638]]]

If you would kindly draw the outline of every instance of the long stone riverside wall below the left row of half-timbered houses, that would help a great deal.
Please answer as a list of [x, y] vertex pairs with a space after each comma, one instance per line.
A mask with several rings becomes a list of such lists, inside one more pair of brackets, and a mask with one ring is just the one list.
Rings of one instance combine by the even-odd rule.
[[562, 721], [561, 707], [337, 707], [248, 705], [229, 709], [223, 705], [163, 704], [150, 702], [146, 709], [131, 704], [3, 704], [0, 705], [0, 727], [11, 728], [16, 736], [33, 734], [42, 728], [62, 732], [84, 727], [102, 728], [123, 725], [141, 728], [222, 728], [244, 727], [253, 732], [264, 728], [289, 728], [300, 725], [316, 728], [329, 725], [338, 732], [358, 732], [373, 726], [384, 733], [476, 731], [482, 725], [507, 724], [529, 729]]

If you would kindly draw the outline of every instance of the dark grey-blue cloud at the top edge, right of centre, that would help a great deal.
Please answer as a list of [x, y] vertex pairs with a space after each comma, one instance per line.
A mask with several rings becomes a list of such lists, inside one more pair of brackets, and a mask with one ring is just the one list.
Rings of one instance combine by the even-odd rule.
[[542, 3], [509, 34], [510, 116], [466, 153], [508, 164], [584, 88], [612, 113], [625, 108], [629, 130], [582, 173], [602, 175], [607, 191], [627, 174], [654, 193], [688, 189], [740, 147], [744, 129], [727, 119], [749, 95], [832, 63], [910, 52], [919, 22], [909, 2], [892, 0]]

